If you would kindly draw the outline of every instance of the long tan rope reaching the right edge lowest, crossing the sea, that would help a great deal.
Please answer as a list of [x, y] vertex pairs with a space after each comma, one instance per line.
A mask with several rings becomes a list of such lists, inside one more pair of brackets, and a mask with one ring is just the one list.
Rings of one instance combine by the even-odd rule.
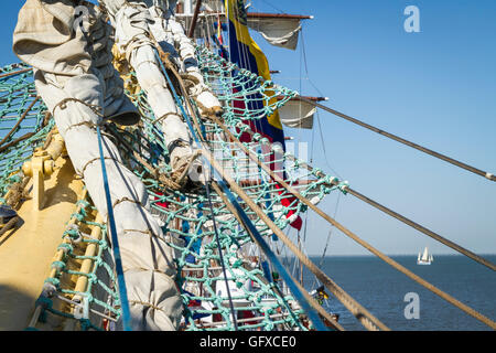
[[[227, 128], [217, 119], [217, 118], [213, 118], [214, 121], [219, 125], [223, 129]], [[304, 197], [303, 195], [301, 195], [294, 188], [290, 186], [282, 178], [280, 178], [279, 175], [277, 175], [276, 173], [273, 173], [267, 165], [260, 163], [258, 161], [258, 159], [256, 159], [256, 157], [254, 157], [254, 154], [246, 149], [246, 147], [242, 146], [241, 142], [239, 142], [238, 139], [236, 139], [236, 137], [233, 136], [233, 133], [227, 130], [226, 132], [227, 135], [229, 135], [233, 138], [233, 141], [235, 141], [244, 151], [245, 153], [247, 153], [247, 156], [254, 160], [256, 163], [259, 164], [260, 168], [262, 168], [271, 178], [273, 178], [273, 180], [276, 180], [277, 182], [279, 182], [287, 191], [289, 191], [290, 193], [292, 193], [296, 199], [299, 199], [301, 202], [303, 202], [305, 205], [308, 205], [310, 208], [312, 208], [315, 213], [317, 213], [321, 217], [323, 217], [324, 220], [326, 220], [328, 223], [331, 223], [332, 225], [334, 225], [336, 228], [338, 228], [341, 232], [343, 232], [346, 236], [351, 237], [353, 240], [355, 240], [356, 243], [358, 243], [359, 245], [362, 245], [363, 247], [365, 247], [367, 250], [369, 250], [370, 253], [373, 253], [374, 255], [376, 255], [377, 257], [379, 257], [380, 259], [382, 259], [385, 263], [387, 263], [388, 265], [392, 266], [393, 268], [396, 268], [397, 270], [399, 270], [400, 272], [402, 272], [403, 275], [408, 276], [409, 278], [413, 279], [414, 281], [417, 281], [418, 284], [420, 284], [421, 286], [423, 286], [424, 288], [429, 289], [430, 291], [434, 292], [435, 295], [438, 295], [439, 297], [443, 298], [444, 300], [446, 300], [448, 302], [452, 303], [453, 306], [455, 306], [456, 308], [465, 311], [466, 313], [468, 313], [470, 315], [474, 317], [475, 319], [479, 320], [481, 322], [484, 322], [485, 324], [487, 324], [490, 328], [496, 329], [496, 322], [492, 321], [490, 319], [486, 318], [485, 315], [481, 314], [479, 312], [475, 311], [474, 309], [470, 308], [468, 306], [462, 303], [461, 301], [456, 300], [455, 298], [451, 297], [450, 295], [441, 291], [440, 289], [438, 289], [436, 287], [434, 287], [433, 285], [429, 284], [428, 281], [425, 281], [424, 279], [420, 278], [419, 276], [414, 275], [413, 272], [411, 272], [410, 270], [408, 270], [407, 268], [405, 268], [403, 266], [401, 266], [400, 264], [396, 263], [395, 260], [392, 260], [390, 257], [386, 256], [385, 254], [380, 253], [379, 250], [377, 250], [376, 248], [374, 248], [371, 245], [369, 245], [367, 242], [363, 240], [362, 238], [359, 238], [356, 234], [354, 234], [353, 232], [351, 232], [349, 229], [347, 229], [346, 227], [344, 227], [343, 225], [341, 225], [338, 222], [336, 222], [334, 218], [332, 218], [330, 215], [327, 215], [326, 213], [324, 213], [321, 208], [316, 207], [313, 203], [311, 203], [306, 197]], [[281, 233], [277, 233], [277, 235], [279, 236]], [[284, 236], [284, 234], [282, 233], [282, 236]], [[293, 253], [295, 253], [298, 250], [298, 248], [294, 250]], [[320, 269], [319, 269], [320, 270]], [[324, 280], [327, 280], [327, 278], [323, 277]], [[321, 279], [322, 280], [322, 279]], [[325, 284], [325, 282], [324, 282]], [[330, 288], [331, 289], [331, 288]]]

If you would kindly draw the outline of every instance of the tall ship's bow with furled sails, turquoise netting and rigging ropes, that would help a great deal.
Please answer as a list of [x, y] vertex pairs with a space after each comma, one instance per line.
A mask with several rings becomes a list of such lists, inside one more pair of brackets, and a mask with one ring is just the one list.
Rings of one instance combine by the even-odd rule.
[[[312, 129], [322, 109], [487, 182], [492, 173], [274, 83], [249, 30], [294, 50], [311, 15], [250, 12], [241, 0], [126, 3], [21, 9], [14, 51], [24, 62], [0, 73], [1, 330], [345, 330], [323, 306], [330, 298], [365, 329], [390, 330], [305, 255], [310, 212], [496, 329], [319, 204], [357, 197], [494, 264], [298, 159], [284, 127]], [[44, 30], [58, 42], [40, 42]]]

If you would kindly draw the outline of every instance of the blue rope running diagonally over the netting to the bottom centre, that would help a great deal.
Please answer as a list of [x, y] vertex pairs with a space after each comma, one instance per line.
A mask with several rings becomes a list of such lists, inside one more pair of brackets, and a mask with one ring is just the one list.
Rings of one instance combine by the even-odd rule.
[[[169, 78], [169, 75], [166, 73], [165, 67], [163, 66], [162, 61], [160, 60], [160, 55], [158, 54], [157, 50], [155, 50], [155, 56], [159, 60], [159, 63], [161, 64], [163, 74], [165, 76], [165, 78], [169, 82], [169, 85], [171, 87], [171, 90], [174, 95], [174, 99], [176, 100], [181, 113], [183, 114], [183, 116], [186, 119], [186, 124], [194, 137], [195, 142], [198, 145], [198, 147], [201, 146], [200, 139], [197, 138], [194, 129], [193, 129], [193, 125], [191, 122], [191, 118], [190, 116], [186, 114], [186, 111], [184, 110], [184, 107], [180, 104], [180, 99], [175, 93], [174, 86], [171, 83], [171, 79]], [[291, 277], [291, 275], [288, 272], [288, 270], [285, 269], [285, 267], [281, 264], [281, 261], [279, 260], [279, 258], [276, 256], [276, 254], [272, 252], [272, 249], [269, 247], [269, 245], [266, 243], [266, 240], [263, 239], [263, 237], [260, 235], [260, 233], [258, 233], [257, 228], [255, 227], [255, 225], [252, 224], [251, 220], [248, 217], [248, 215], [245, 213], [245, 211], [242, 210], [242, 207], [239, 205], [236, 196], [230, 192], [230, 190], [227, 188], [226, 183], [224, 182], [223, 178], [220, 176], [220, 174], [218, 173], [217, 170], [215, 170], [211, 162], [204, 157], [202, 156], [203, 160], [207, 162], [207, 164], [209, 165], [211, 170], [213, 170], [214, 172], [214, 179], [217, 181], [218, 185], [223, 189], [224, 193], [226, 194], [227, 199], [229, 199], [229, 202], [235, 206], [236, 211], [238, 212], [239, 216], [241, 217], [242, 222], [245, 223], [245, 225], [248, 227], [249, 232], [252, 234], [252, 236], [255, 237], [256, 242], [259, 244], [260, 248], [262, 249], [262, 252], [266, 254], [267, 258], [269, 259], [269, 261], [274, 266], [274, 268], [278, 270], [278, 272], [281, 275], [281, 277], [284, 279], [285, 284], [288, 285], [289, 289], [291, 290], [291, 292], [293, 293], [293, 296], [295, 297], [296, 301], [302, 306], [302, 309], [305, 311], [306, 315], [309, 317], [309, 319], [312, 321], [314, 328], [319, 331], [328, 331], [328, 328], [323, 324], [322, 320], [320, 319], [317, 312], [312, 308], [312, 306], [310, 304], [310, 302], [306, 300], [306, 298], [303, 296], [303, 292], [300, 290], [300, 288], [296, 286], [296, 284], [294, 282], [293, 278]]]

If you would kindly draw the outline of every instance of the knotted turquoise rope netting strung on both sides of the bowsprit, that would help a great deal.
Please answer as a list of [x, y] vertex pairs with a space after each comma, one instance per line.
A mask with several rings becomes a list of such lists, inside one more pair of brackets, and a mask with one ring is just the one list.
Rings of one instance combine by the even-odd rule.
[[[295, 92], [288, 88], [276, 86], [270, 82], [262, 82], [260, 77], [249, 72], [239, 72], [233, 64], [205, 49], [198, 49], [197, 53], [205, 82], [218, 96], [225, 110], [222, 120], [238, 139], [241, 138], [244, 132], [249, 131], [250, 121], [271, 115], [296, 95]], [[0, 89], [2, 93], [4, 92], [3, 98], [6, 99], [1, 100], [2, 111], [6, 111], [1, 120], [1, 127], [3, 127], [3, 121], [9, 121], [11, 125], [15, 124], [15, 119], [10, 116], [15, 116], [19, 119], [30, 101], [34, 99], [35, 90], [30, 73], [0, 81]], [[234, 93], [233, 88], [236, 88], [237, 93]], [[14, 105], [14, 100], [10, 99], [12, 95], [24, 97], [24, 99], [17, 98], [15, 101], [18, 103]], [[263, 108], [252, 108], [250, 99], [254, 99], [255, 96], [261, 97], [259, 99], [265, 101]], [[271, 99], [273, 96], [281, 98]], [[231, 287], [238, 329], [308, 330], [308, 325], [302, 320], [304, 313], [292, 296], [285, 291], [283, 284], [274, 281], [270, 270], [263, 268], [263, 256], [258, 253], [250, 236], [226, 207], [222, 199], [215, 193], [212, 194], [214, 204], [214, 215], [212, 215], [208, 200], [202, 190], [192, 193], [174, 191], [164, 186], [160, 176], [169, 176], [169, 152], [163, 142], [159, 124], [153, 124], [155, 117], [143, 92], [130, 95], [130, 97], [143, 116], [140, 126], [126, 130], [111, 126], [108, 131], [118, 136], [115, 142], [121, 148], [123, 160], [147, 185], [152, 213], [161, 220], [164, 234], [168, 234], [168, 243], [176, 249], [176, 265], [180, 274], [177, 285], [182, 289], [185, 308], [181, 329], [188, 331], [234, 330], [225, 291], [225, 280], [219, 267], [220, 257], [214, 239], [215, 232], [212, 220], [215, 216], [225, 260], [224, 265], [230, 279], [229, 288]], [[239, 108], [238, 105], [235, 107], [235, 101], [239, 100], [245, 103], [245, 108]], [[6, 150], [4, 153], [9, 154], [1, 153], [0, 188], [2, 189], [0, 189], [0, 196], [4, 195], [9, 186], [21, 176], [20, 165], [30, 158], [33, 142], [39, 141], [36, 146], [42, 143], [53, 127], [53, 120], [50, 120], [48, 125], [43, 127], [43, 105], [35, 105], [31, 110], [32, 113], [26, 116], [25, 125], [22, 125], [22, 127], [25, 127], [24, 129], [31, 128], [31, 131], [34, 131], [35, 135], [29, 140]], [[3, 120], [3, 117], [6, 117], [6, 120]], [[28, 121], [32, 121], [32, 125], [28, 126]], [[242, 186], [245, 192], [270, 215], [278, 227], [287, 228], [298, 215], [306, 211], [305, 205], [291, 199], [291, 195], [279, 189], [277, 183], [257, 164], [250, 163], [245, 152], [226, 138], [222, 127], [211, 120], [202, 120], [198, 124], [202, 135], [208, 141], [216, 160]], [[0, 131], [3, 133], [7, 130], [9, 129], [6, 128]], [[9, 141], [14, 140], [20, 135], [22, 132], [18, 131]], [[270, 161], [274, 172], [282, 173], [284, 171], [287, 182], [314, 203], [317, 203], [334, 190], [345, 192], [345, 182], [332, 186], [331, 182], [336, 181], [335, 178], [317, 176], [322, 175], [320, 170], [309, 171], [302, 168], [301, 164], [304, 161], [294, 158], [289, 152], [281, 151], [277, 147], [271, 147], [268, 139], [260, 133], [255, 133], [250, 142], [244, 143], [258, 156], [260, 161]], [[4, 156], [8, 156], [11, 160], [9, 163], [3, 163]], [[284, 199], [290, 201], [285, 206], [282, 205]], [[272, 239], [273, 235], [269, 227], [242, 201], [240, 201], [240, 204], [260, 234]], [[290, 214], [292, 214], [291, 217], [288, 217]], [[85, 221], [82, 218], [78, 222]], [[67, 236], [67, 234], [64, 234], [64, 236]], [[85, 330], [101, 328], [101, 315], [89, 314], [90, 309], [94, 309], [94, 311], [104, 309], [107, 315], [116, 319], [119, 317], [115, 277], [112, 271], [108, 271], [111, 264], [109, 257], [104, 256], [103, 252], [107, 252], [107, 243], [98, 244], [101, 252], [95, 257], [95, 261], [103, 269], [106, 269], [103, 272], [106, 274], [104, 277], [107, 282], [99, 280], [94, 274], [91, 282], [99, 286], [88, 286], [88, 290], [84, 293], [76, 293], [71, 288], [58, 288], [58, 292], [66, 298], [72, 298], [74, 295], [89, 298], [89, 300], [83, 302], [86, 309], [80, 310], [86, 314], [83, 314], [83, 317], [78, 314], [76, 318], [71, 312], [61, 313], [53, 310], [52, 313], [74, 318], [82, 323], [80, 328]], [[85, 244], [82, 246], [84, 248]], [[80, 259], [74, 256], [78, 255], [67, 252], [64, 260]], [[63, 264], [56, 264], [56, 266], [60, 268], [61, 276], [69, 268], [69, 266]], [[78, 274], [73, 271], [71, 275]], [[61, 282], [57, 282], [57, 285], [60, 286]], [[101, 297], [95, 300], [94, 298], [97, 298], [97, 296], [94, 296], [95, 287], [100, 287], [100, 292], [104, 288], [105, 296], [110, 298], [110, 301], [107, 302]]]

